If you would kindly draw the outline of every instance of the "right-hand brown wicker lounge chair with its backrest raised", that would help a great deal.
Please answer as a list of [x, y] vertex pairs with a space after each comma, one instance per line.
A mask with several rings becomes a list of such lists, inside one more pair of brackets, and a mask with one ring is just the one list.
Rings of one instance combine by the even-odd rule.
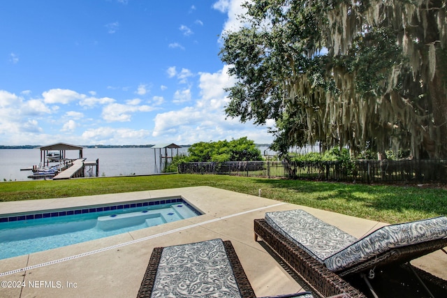
[[254, 221], [255, 241], [263, 239], [322, 297], [345, 293], [364, 297], [344, 279], [404, 263], [447, 246], [447, 218], [388, 225], [362, 239], [303, 210], [268, 212]]

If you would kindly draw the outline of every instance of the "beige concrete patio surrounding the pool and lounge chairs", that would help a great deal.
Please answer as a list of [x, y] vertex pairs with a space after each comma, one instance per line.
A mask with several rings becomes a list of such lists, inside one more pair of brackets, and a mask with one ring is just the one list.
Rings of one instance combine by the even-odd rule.
[[[286, 204], [252, 195], [199, 186], [160, 191], [117, 193], [76, 198], [1, 202], [2, 214], [110, 204], [151, 198], [182, 196], [204, 213], [112, 237], [0, 260], [0, 281], [19, 283], [0, 297], [135, 297], [152, 249], [207, 239], [230, 240], [258, 297], [302, 291], [298, 284], [260, 243], [254, 241], [253, 221], [266, 211], [305, 209], [355, 237], [385, 223], [329, 211]], [[140, 239], [140, 240], [138, 240]], [[447, 279], [447, 258], [436, 252], [414, 260], [413, 265]]]

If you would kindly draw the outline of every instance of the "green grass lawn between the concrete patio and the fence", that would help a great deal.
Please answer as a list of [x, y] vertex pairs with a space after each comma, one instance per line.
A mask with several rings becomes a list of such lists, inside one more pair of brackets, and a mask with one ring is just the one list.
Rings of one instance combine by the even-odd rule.
[[447, 191], [439, 188], [372, 186], [200, 174], [1, 182], [0, 202], [186, 186], [212, 186], [249, 195], [258, 195], [258, 190], [261, 189], [264, 198], [387, 223], [447, 214]]

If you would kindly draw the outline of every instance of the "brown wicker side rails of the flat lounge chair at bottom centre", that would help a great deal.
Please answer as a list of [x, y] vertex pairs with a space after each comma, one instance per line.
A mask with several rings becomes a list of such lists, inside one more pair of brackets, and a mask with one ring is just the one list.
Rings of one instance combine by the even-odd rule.
[[[235, 276], [235, 281], [237, 287], [239, 288], [240, 295], [244, 298], [256, 297], [253, 288], [251, 288], [250, 282], [245, 274], [244, 268], [240, 264], [239, 258], [237, 258], [233, 244], [230, 241], [223, 241], [223, 247], [225, 248], [226, 255], [230, 261], [230, 265], [233, 269], [233, 274]], [[149, 265], [145, 272], [145, 276], [142, 279], [140, 290], [138, 291], [138, 298], [149, 298], [152, 295], [152, 288], [155, 282], [156, 271], [159, 267], [161, 253], [163, 252], [163, 247], [156, 247], [152, 251], [151, 258], [149, 260]]]

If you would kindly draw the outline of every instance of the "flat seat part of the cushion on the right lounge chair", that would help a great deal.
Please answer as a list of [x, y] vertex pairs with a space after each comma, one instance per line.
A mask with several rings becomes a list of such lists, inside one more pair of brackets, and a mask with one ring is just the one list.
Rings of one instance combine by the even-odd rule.
[[320, 262], [357, 240], [300, 209], [267, 212], [265, 221]]

